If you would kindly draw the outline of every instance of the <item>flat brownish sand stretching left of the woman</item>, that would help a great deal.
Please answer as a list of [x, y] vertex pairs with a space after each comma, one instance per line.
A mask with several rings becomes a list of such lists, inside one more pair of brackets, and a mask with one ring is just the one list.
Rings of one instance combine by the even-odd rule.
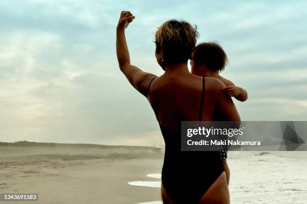
[[154, 147], [2, 143], [0, 193], [38, 193], [39, 201], [29, 204], [161, 200], [160, 188], [128, 182], [161, 172], [163, 154], [163, 149]]

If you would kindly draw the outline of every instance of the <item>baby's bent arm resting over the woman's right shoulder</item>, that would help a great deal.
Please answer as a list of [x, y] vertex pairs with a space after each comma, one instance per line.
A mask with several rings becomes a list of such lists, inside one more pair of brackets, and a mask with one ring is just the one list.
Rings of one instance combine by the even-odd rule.
[[245, 101], [247, 100], [247, 91], [244, 89], [244, 88], [241, 88], [239, 86], [235, 86], [235, 84], [222, 77], [220, 78], [220, 80], [226, 85], [226, 87], [224, 88], [224, 90], [230, 95], [230, 96], [233, 96], [235, 97], [237, 100], [240, 100], [240, 101]]

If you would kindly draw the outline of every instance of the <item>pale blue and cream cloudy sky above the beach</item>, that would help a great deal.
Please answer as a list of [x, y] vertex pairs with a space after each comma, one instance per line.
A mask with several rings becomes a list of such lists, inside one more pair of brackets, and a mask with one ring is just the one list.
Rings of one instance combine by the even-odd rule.
[[[187, 3], [188, 2], [188, 3]], [[131, 63], [163, 74], [154, 51], [168, 19], [198, 26], [198, 42], [228, 54], [222, 76], [248, 91], [242, 120], [306, 120], [307, 1], [2, 0], [0, 141], [159, 145], [148, 101], [120, 72], [121, 10]]]

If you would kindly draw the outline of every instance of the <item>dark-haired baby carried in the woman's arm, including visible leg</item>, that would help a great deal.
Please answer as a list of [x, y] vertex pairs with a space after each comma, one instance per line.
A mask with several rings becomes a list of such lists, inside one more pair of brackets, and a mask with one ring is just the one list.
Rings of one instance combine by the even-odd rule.
[[[218, 43], [203, 42], [198, 44], [192, 53], [192, 59], [190, 60], [191, 71], [199, 76], [216, 77], [220, 79], [226, 85], [224, 88], [225, 92], [240, 101], [245, 101], [247, 100], [246, 90], [239, 86], [235, 86], [232, 81], [220, 75], [220, 72], [224, 70], [227, 62], [227, 55]], [[220, 151], [219, 153], [223, 160], [226, 179], [229, 184], [230, 169], [226, 161], [227, 151]]]

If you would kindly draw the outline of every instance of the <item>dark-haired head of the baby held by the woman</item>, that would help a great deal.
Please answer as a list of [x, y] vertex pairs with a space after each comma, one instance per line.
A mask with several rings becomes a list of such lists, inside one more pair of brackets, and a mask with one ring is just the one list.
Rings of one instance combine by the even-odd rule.
[[227, 55], [221, 45], [216, 42], [202, 42], [192, 53], [191, 71], [200, 76], [204, 76], [205, 71], [221, 72], [227, 62]]

